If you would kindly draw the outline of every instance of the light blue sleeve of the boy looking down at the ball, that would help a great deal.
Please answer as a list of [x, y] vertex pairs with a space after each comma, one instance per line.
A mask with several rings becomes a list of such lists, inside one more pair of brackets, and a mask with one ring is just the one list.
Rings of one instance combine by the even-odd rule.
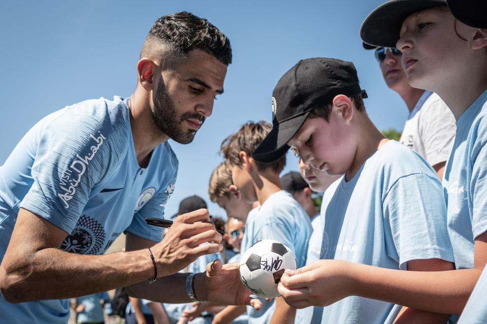
[[[406, 262], [443, 259], [453, 262], [446, 228], [446, 204], [439, 180], [424, 174], [398, 179], [383, 203], [385, 224], [389, 224], [393, 246], [388, 255], [406, 269]], [[388, 237], [388, 235], [391, 235]]]

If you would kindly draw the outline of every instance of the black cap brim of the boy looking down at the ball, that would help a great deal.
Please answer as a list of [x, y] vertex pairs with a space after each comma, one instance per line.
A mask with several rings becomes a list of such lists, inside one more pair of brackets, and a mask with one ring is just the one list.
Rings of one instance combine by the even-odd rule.
[[257, 146], [252, 157], [260, 163], [272, 163], [283, 157], [289, 150], [288, 142], [299, 131], [308, 114], [309, 111], [274, 125], [269, 134]]

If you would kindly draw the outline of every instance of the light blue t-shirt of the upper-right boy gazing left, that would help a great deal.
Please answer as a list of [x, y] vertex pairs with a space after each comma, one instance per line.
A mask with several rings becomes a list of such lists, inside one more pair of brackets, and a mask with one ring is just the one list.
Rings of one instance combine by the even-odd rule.
[[474, 239], [487, 230], [487, 90], [457, 120], [443, 175], [457, 269], [473, 268]]

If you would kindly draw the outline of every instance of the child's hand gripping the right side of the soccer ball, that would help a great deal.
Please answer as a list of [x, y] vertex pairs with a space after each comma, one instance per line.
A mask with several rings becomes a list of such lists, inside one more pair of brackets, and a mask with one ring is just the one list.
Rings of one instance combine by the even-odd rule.
[[353, 263], [318, 260], [297, 270], [286, 270], [277, 290], [295, 308], [328, 306], [353, 295]]

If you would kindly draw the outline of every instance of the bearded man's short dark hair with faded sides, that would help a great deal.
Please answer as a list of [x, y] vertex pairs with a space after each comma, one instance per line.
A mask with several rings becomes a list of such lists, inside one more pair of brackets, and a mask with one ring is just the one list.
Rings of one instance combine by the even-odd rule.
[[186, 11], [157, 19], [142, 47], [141, 58], [164, 46], [173, 56], [185, 57], [188, 52], [198, 49], [215, 56], [225, 65], [232, 62], [230, 39], [206, 19]]

